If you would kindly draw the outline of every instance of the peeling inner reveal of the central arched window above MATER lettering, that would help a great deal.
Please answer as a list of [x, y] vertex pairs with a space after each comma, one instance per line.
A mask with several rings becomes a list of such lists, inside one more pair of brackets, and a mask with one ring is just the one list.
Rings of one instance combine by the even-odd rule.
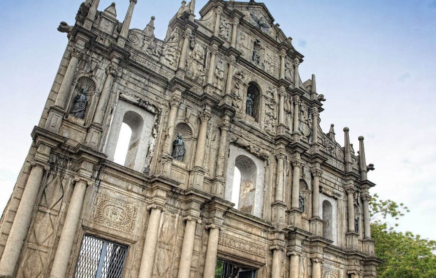
[[256, 164], [249, 157], [240, 155], [235, 160], [235, 170], [236, 168], [241, 173], [238, 209], [246, 213], [253, 213], [258, 175]]

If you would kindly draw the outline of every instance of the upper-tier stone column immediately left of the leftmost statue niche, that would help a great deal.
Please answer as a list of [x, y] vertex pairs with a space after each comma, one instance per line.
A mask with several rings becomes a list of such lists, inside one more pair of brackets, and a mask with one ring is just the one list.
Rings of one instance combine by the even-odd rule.
[[68, 96], [71, 91], [71, 83], [73, 82], [74, 75], [76, 74], [77, 65], [81, 56], [81, 50], [73, 47], [70, 51], [71, 59], [68, 64], [67, 71], [65, 72], [64, 79], [62, 80], [61, 87], [59, 88], [58, 95], [56, 96], [55, 106], [66, 109]]

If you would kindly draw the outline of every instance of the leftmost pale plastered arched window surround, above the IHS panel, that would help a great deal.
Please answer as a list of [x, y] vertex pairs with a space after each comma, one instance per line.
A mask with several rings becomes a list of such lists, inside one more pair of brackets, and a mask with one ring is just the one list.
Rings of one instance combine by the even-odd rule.
[[128, 125], [132, 131], [124, 166], [142, 172], [146, 157], [152, 152], [152, 148], [149, 148], [149, 146], [153, 139], [154, 115], [147, 110], [119, 100], [112, 117], [109, 135], [104, 147], [108, 160], [114, 161], [123, 123]]

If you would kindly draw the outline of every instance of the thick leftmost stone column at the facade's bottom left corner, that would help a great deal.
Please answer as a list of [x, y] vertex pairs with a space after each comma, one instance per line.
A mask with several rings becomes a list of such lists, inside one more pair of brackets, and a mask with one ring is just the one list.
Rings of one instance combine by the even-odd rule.
[[2, 277], [14, 276], [15, 267], [23, 250], [24, 240], [32, 221], [32, 212], [38, 197], [44, 170], [48, 171], [50, 169], [48, 165], [36, 161], [31, 161], [31, 165], [32, 170], [24, 188], [8, 240], [6, 241], [2, 260], [0, 261], [0, 276]]

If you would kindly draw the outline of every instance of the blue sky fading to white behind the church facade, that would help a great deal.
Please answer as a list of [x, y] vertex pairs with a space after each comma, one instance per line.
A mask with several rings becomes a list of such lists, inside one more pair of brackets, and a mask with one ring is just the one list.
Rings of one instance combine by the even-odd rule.
[[[112, 1], [101, 0], [99, 10]], [[5, 1], [0, 10], [0, 209], [12, 192], [81, 1]], [[123, 20], [128, 0], [116, 2]], [[197, 0], [197, 11], [206, 3]], [[400, 230], [436, 239], [436, 0], [265, 0], [327, 98], [321, 127], [365, 137], [371, 193], [408, 205]], [[156, 17], [163, 38], [180, 1], [138, 0], [131, 28]], [[198, 13], [197, 13], [198, 16]]]

